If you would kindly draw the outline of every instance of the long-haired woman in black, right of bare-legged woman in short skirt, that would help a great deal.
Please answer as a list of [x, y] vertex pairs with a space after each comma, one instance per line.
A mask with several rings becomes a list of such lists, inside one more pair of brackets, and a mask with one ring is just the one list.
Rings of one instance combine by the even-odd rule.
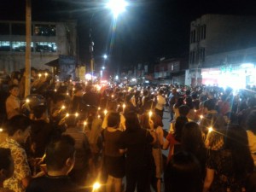
[[119, 150], [121, 153], [126, 153], [125, 191], [134, 192], [137, 188], [138, 192], [148, 192], [154, 163], [150, 144], [154, 138], [149, 131], [141, 128], [137, 113], [125, 114], [125, 128]]

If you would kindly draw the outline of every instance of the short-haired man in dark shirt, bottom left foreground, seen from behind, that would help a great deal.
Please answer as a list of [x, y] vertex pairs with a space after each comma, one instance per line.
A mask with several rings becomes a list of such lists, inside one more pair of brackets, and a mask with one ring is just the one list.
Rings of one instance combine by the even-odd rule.
[[75, 142], [70, 136], [61, 136], [46, 148], [47, 174], [33, 178], [26, 192], [77, 192], [83, 191], [74, 184], [67, 174], [75, 163]]

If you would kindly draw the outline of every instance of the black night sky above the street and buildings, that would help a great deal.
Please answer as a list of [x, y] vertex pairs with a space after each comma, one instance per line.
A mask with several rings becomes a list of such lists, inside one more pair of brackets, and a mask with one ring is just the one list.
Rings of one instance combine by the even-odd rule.
[[[79, 22], [79, 58], [88, 63], [89, 29], [96, 62], [110, 54], [109, 65], [153, 63], [161, 57], [189, 55], [189, 23], [204, 14], [256, 15], [256, 0], [127, 0], [110, 45], [113, 17], [100, 0], [32, 0], [32, 20]], [[1, 0], [0, 20], [25, 20], [25, 0]], [[255, 23], [256, 25], [256, 23]]]

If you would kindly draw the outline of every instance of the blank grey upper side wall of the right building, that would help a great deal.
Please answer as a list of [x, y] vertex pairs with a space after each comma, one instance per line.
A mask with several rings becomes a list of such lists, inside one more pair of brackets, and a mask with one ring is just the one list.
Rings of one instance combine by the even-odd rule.
[[[206, 25], [206, 38], [189, 45], [190, 52], [205, 48], [205, 55], [215, 55], [233, 50], [247, 49], [256, 46], [256, 17], [236, 15], [202, 15], [191, 22], [190, 31]], [[190, 63], [193, 64], [193, 63]], [[196, 65], [212, 67], [212, 62], [195, 61]]]

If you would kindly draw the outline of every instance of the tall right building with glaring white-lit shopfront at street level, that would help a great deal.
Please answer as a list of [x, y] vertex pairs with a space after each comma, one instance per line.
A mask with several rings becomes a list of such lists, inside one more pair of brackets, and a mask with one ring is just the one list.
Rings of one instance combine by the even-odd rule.
[[[224, 75], [232, 82], [242, 79], [242, 86], [252, 84], [248, 73], [241, 72], [255, 68], [255, 22], [256, 17], [238, 15], [202, 15], [193, 20], [186, 84], [223, 84]], [[219, 78], [211, 79], [211, 72]]]

